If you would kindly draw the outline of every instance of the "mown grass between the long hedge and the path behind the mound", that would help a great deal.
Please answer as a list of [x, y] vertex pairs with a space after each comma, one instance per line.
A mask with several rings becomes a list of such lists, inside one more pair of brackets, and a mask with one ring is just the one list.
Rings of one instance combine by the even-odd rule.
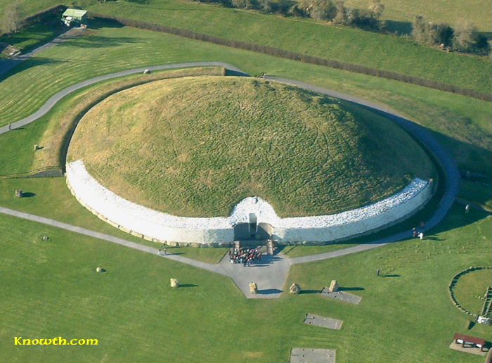
[[[128, 52], [133, 56], [124, 56]], [[387, 104], [434, 130], [460, 167], [491, 173], [488, 167], [492, 158], [489, 102], [127, 27], [103, 27], [90, 37], [60, 44], [17, 68], [13, 75], [0, 82], [4, 95], [0, 100], [0, 125], [34, 112], [56, 91], [86, 79], [87, 75], [93, 77], [136, 66], [193, 60], [224, 60], [252, 75], [264, 71], [302, 79]], [[51, 82], [53, 77], [57, 82]], [[6, 140], [6, 137], [1, 135], [0, 139]], [[3, 142], [5, 145], [6, 141]], [[27, 152], [32, 153], [30, 148]], [[15, 162], [11, 166], [13, 169], [0, 164], [1, 174], [18, 172], [20, 167]]]

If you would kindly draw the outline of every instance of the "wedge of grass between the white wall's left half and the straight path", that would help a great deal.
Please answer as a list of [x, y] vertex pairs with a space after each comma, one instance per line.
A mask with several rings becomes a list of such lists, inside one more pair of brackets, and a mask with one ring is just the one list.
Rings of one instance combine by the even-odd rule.
[[[15, 189], [22, 189], [25, 198], [15, 197]], [[159, 248], [160, 245], [127, 234], [103, 222], [89, 210], [82, 207], [70, 194], [65, 178], [30, 178], [0, 180], [0, 205], [13, 210], [41, 215], [60, 222], [91, 229], [103, 234]], [[47, 228], [47, 227], [46, 227]], [[203, 262], [216, 263], [226, 253], [226, 248], [175, 248], [167, 247], [169, 253], [176, 253]]]

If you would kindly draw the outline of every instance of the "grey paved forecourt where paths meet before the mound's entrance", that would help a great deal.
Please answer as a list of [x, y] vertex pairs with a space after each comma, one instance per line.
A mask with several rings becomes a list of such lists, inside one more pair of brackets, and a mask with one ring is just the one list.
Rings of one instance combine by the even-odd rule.
[[[290, 265], [290, 259], [282, 253], [264, 255], [260, 261], [249, 267], [231, 264], [228, 254], [220, 262], [221, 270], [231, 276], [236, 286], [248, 299], [280, 298]], [[251, 282], [257, 284], [258, 293], [250, 293]]]

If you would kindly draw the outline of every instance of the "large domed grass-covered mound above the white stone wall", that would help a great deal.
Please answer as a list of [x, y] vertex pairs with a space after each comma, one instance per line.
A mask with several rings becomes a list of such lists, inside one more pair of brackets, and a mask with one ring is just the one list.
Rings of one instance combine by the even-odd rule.
[[433, 167], [392, 122], [277, 82], [187, 77], [119, 92], [81, 120], [70, 159], [136, 203], [227, 216], [261, 196], [281, 216], [325, 215], [395, 193]]

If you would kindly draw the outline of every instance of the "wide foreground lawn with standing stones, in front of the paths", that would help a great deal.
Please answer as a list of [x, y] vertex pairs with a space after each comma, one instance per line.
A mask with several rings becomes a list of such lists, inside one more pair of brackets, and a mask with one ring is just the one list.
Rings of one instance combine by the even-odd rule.
[[[454, 332], [488, 340], [491, 334], [480, 324], [467, 331], [470, 317], [453, 306], [447, 289], [455, 272], [490, 261], [489, 223], [479, 212], [454, 211], [444, 223], [448, 231], [436, 234], [440, 241], [297, 265], [287, 284], [297, 281], [306, 293], [247, 300], [223, 276], [0, 215], [0, 359], [287, 362], [290, 348], [311, 347], [334, 348], [343, 362], [483, 362], [448, 349]], [[43, 235], [50, 239], [41, 241]], [[97, 274], [97, 266], [107, 272]], [[171, 277], [187, 287], [170, 288]], [[314, 293], [331, 279], [361, 295], [361, 303]], [[303, 324], [306, 312], [342, 319], [342, 330]], [[13, 345], [13, 336], [98, 338], [99, 345], [26, 349]]]

